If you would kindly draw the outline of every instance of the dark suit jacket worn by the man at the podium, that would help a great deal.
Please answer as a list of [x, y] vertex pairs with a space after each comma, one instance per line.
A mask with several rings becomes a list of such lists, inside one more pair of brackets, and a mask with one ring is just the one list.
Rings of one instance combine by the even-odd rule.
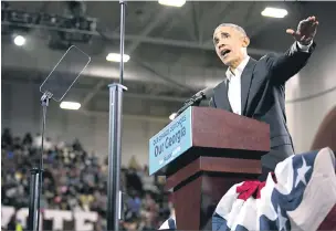
[[[242, 116], [270, 124], [271, 149], [282, 150], [284, 158], [294, 154], [286, 126], [285, 83], [305, 66], [315, 46], [303, 52], [294, 43], [284, 54], [267, 54], [259, 61], [250, 57], [241, 75]], [[232, 112], [225, 81], [214, 87], [210, 106]]]

